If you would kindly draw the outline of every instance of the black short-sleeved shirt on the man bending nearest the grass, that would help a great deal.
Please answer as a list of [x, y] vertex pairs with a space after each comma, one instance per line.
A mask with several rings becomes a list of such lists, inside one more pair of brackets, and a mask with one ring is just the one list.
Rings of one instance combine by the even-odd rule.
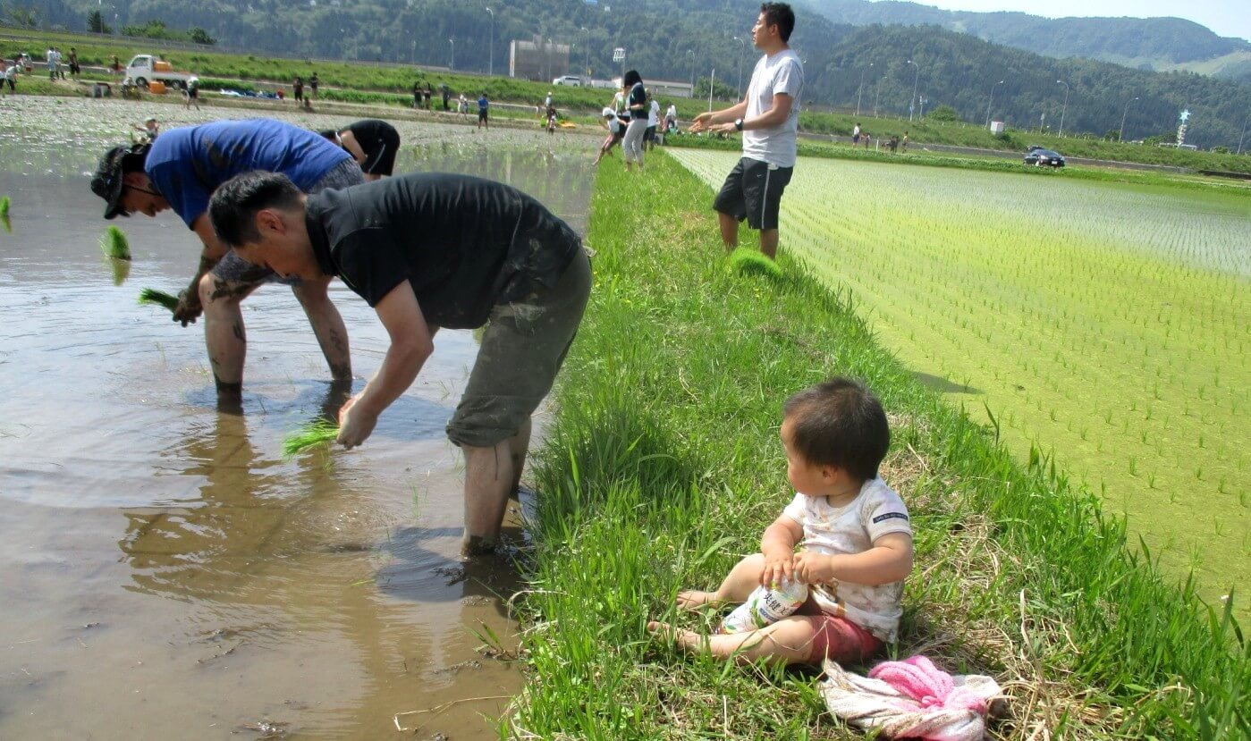
[[308, 197], [322, 271], [370, 306], [408, 280], [425, 321], [479, 327], [497, 304], [554, 286], [582, 241], [515, 187], [412, 172]]

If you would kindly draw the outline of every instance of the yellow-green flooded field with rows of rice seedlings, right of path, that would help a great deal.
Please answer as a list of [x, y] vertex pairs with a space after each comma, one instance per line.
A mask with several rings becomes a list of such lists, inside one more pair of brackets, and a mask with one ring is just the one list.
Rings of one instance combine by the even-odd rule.
[[[738, 155], [674, 156], [719, 187]], [[1251, 194], [803, 160], [781, 230], [922, 380], [1087, 482], [1166, 569], [1210, 600], [1251, 582]]]

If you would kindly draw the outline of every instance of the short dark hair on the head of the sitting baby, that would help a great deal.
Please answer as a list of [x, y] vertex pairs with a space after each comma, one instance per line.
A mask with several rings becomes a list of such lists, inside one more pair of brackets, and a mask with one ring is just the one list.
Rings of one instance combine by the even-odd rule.
[[782, 415], [791, 422], [791, 445], [807, 462], [843, 469], [859, 481], [877, 477], [891, 426], [864, 384], [831, 379], [787, 399]]

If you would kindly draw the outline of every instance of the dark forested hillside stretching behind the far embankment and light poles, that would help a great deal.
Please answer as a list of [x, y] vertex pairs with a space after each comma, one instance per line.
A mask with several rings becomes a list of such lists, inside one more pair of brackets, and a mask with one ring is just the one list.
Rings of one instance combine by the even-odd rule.
[[[93, 0], [81, 0], [81, 7], [69, 4], [76, 1], [48, 0], [41, 7], [55, 10], [49, 17], [61, 20], [40, 24], [85, 30], [88, 10], [96, 5]], [[494, 27], [487, 6], [494, 12]], [[707, 77], [716, 67], [717, 81], [733, 89], [739, 65], [746, 86], [758, 56], [749, 40], [758, 7], [753, 0], [636, 0], [628, 6], [583, 0], [510, 0], [507, 5], [492, 5], [492, 0], [133, 0], [116, 21], [108, 14], [105, 20], [119, 26], [151, 19], [171, 27], [199, 26], [221, 47], [245, 52], [437, 66], [452, 64], [449, 39], [454, 39], [457, 70], [485, 72], [493, 50], [495, 74], [507, 74], [508, 40], [542, 36], [573, 45], [570, 71], [589, 70], [598, 77], [619, 74], [612, 52], [622, 46], [627, 66], [644, 79]], [[926, 111], [951, 106], [966, 121], [982, 124], [990, 90], [1003, 80], [995, 87], [992, 117], [1016, 127], [1045, 125], [1055, 131], [1065, 101], [1057, 80], [1063, 80], [1070, 86], [1063, 111], [1068, 132], [1103, 135], [1118, 129], [1127, 112], [1127, 139], [1162, 135], [1176, 127], [1177, 114], [1188, 107], [1187, 142], [1231, 149], [1251, 110], [1251, 87], [1231, 81], [1040, 56], [936, 26], [833, 25], [801, 9], [792, 45], [806, 65], [806, 102], [818, 106], [854, 107], [863, 75], [863, 111], [876, 104], [879, 111], [907, 117], [916, 85], [927, 101]], [[908, 59], [917, 64], [908, 65]]]

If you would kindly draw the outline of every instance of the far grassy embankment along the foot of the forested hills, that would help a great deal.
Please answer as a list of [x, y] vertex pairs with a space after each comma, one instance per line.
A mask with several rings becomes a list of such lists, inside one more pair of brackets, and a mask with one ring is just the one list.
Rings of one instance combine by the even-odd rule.
[[[305, 80], [313, 71], [318, 72], [324, 100], [359, 104], [383, 104], [410, 107], [413, 82], [427, 82], [435, 89], [447, 84], [453, 95], [464, 92], [477, 97], [485, 92], [494, 101], [534, 105], [543, 100], [550, 90], [555, 92], [557, 107], [562, 114], [593, 115], [612, 99], [610, 90], [585, 87], [553, 87], [547, 82], [514, 80], [504, 76], [464, 75], [443, 70], [423, 70], [407, 66], [383, 66], [358, 61], [308, 61], [256, 55], [221, 54], [201, 50], [163, 50], [145, 39], [119, 36], [114, 39], [66, 32], [44, 32], [29, 29], [0, 26], [0, 34], [13, 39], [10, 45], [30, 46], [28, 51], [41, 54], [50, 44], [75, 46], [85, 65], [106, 65], [113, 55], [125, 64], [135, 54], [164, 52], [175, 69], [195, 71], [208, 87], [234, 86], [246, 89], [246, 84], [256, 84], [259, 89], [273, 90], [278, 85], [290, 92], [290, 82], [295, 75]], [[244, 85], [240, 85], [243, 82]], [[666, 100], [666, 104], [669, 102]], [[707, 110], [707, 100], [673, 99], [678, 115], [687, 120], [697, 112]], [[717, 107], [732, 101], [714, 101]], [[891, 117], [876, 119], [852, 114], [806, 111], [799, 116], [799, 127], [811, 134], [838, 134], [851, 136], [852, 126], [861, 122], [866, 131], [886, 141], [891, 135], [911, 135], [912, 142], [950, 144], [995, 149], [1003, 151], [1025, 151], [1031, 144], [1056, 149], [1070, 156], [1117, 160], [1126, 162], [1172, 165], [1195, 170], [1227, 170], [1251, 172], [1251, 156], [1218, 155], [1155, 146], [1140, 146], [1086, 139], [1076, 136], [1060, 137], [1055, 135], [1010, 131], [1006, 136], [993, 136], [982, 126], [965, 122], [945, 122], [933, 120], [903, 121]]]

